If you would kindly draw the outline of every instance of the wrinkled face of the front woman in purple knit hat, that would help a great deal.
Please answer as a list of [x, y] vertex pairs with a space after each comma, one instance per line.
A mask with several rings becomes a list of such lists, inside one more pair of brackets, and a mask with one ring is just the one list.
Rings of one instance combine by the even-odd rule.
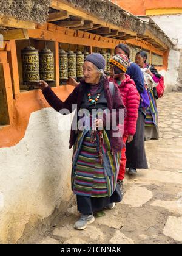
[[83, 76], [86, 83], [98, 84], [99, 82], [99, 71], [92, 62], [88, 62], [87, 60], [83, 65]]

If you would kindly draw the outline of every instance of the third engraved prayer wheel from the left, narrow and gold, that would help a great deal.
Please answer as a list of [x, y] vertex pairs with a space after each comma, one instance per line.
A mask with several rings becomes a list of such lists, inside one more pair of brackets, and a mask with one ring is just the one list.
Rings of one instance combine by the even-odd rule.
[[59, 49], [59, 77], [60, 80], [67, 80], [67, 52], [63, 49]]

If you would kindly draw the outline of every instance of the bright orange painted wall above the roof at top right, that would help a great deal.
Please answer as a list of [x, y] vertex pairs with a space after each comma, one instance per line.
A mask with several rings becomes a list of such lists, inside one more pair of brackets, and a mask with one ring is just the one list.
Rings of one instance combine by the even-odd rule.
[[134, 15], [146, 15], [146, 10], [159, 8], [182, 8], [181, 0], [112, 0], [114, 4], [118, 4], [121, 8], [133, 13]]

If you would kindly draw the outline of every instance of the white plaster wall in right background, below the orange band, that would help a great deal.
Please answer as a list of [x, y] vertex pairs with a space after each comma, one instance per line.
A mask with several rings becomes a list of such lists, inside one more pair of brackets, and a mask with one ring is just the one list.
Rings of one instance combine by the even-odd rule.
[[152, 20], [168, 35], [175, 44], [170, 50], [167, 73], [164, 71], [166, 91], [181, 87], [180, 74], [182, 72], [180, 49], [182, 49], [182, 14], [151, 16]]

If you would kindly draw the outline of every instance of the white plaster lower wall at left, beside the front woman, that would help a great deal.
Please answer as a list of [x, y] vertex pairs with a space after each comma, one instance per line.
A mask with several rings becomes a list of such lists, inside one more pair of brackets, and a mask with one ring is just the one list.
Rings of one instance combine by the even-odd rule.
[[[71, 115], [52, 108], [32, 113], [25, 137], [0, 149], [0, 243], [16, 243], [25, 225], [70, 200]], [[62, 130], [61, 130], [62, 129]]]

